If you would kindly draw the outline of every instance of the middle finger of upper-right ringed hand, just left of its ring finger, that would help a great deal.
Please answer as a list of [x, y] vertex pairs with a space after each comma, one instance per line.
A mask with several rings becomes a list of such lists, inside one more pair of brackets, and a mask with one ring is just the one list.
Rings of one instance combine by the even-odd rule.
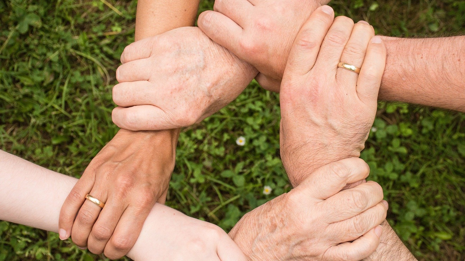
[[321, 44], [315, 67], [318, 67], [328, 75], [334, 75], [334, 78], [336, 78], [338, 64], [341, 60], [344, 47], [350, 38], [352, 29], [352, 19], [345, 16], [338, 16], [334, 19], [331, 28]]

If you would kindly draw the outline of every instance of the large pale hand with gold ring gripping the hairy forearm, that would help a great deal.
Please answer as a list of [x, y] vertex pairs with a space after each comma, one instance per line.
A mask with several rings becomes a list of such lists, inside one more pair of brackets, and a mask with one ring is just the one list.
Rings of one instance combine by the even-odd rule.
[[[359, 157], [385, 68], [386, 49], [373, 27], [333, 19], [326, 8], [302, 26], [281, 85], [281, 158], [293, 184], [322, 165]], [[338, 68], [339, 62], [361, 68], [360, 74]]]

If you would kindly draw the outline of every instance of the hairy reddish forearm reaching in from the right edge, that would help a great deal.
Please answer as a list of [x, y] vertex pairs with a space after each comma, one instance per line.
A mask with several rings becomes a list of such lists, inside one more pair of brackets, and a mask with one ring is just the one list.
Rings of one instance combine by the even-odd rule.
[[382, 38], [388, 54], [380, 99], [465, 112], [465, 36]]

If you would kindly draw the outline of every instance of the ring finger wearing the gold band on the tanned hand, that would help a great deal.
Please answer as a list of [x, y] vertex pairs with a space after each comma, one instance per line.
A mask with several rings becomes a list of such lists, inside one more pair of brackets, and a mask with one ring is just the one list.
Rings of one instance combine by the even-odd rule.
[[[101, 202], [106, 202], [106, 190], [94, 187], [89, 195], [95, 197]], [[80, 248], [87, 247], [87, 239], [92, 231], [93, 224], [97, 221], [102, 209], [90, 200], [86, 200], [76, 216], [76, 221], [71, 230], [71, 238], [74, 244]]]

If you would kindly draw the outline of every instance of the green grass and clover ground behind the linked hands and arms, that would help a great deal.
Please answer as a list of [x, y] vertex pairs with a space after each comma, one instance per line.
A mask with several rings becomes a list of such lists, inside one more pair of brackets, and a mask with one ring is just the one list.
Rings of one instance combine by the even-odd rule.
[[[0, 0], [0, 149], [79, 177], [116, 133], [115, 69], [133, 41], [135, 1]], [[464, 0], [337, 0], [385, 35], [465, 33]], [[203, 0], [201, 9], [213, 1]], [[279, 159], [279, 98], [252, 83], [180, 136], [167, 204], [230, 229], [290, 189]], [[465, 116], [379, 104], [362, 157], [389, 221], [420, 260], [465, 259]], [[235, 140], [246, 137], [239, 147]], [[270, 196], [263, 186], [273, 188]], [[0, 221], [0, 261], [105, 260], [55, 233]]]

